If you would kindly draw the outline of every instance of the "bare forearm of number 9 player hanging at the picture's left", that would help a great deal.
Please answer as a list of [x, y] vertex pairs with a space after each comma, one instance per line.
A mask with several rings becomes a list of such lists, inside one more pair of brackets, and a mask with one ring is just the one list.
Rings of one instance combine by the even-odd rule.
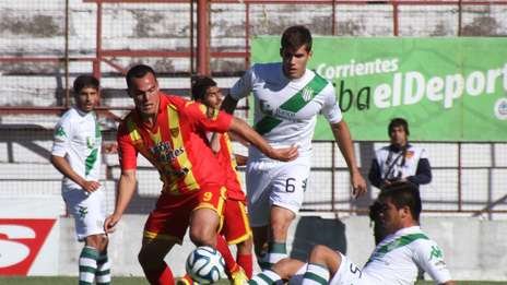
[[104, 230], [106, 230], [106, 233], [115, 231], [116, 224], [120, 221], [127, 205], [132, 199], [133, 192], [135, 191], [135, 182], [134, 169], [121, 171], [121, 176], [118, 181], [118, 198], [116, 200], [115, 212], [104, 222]]

